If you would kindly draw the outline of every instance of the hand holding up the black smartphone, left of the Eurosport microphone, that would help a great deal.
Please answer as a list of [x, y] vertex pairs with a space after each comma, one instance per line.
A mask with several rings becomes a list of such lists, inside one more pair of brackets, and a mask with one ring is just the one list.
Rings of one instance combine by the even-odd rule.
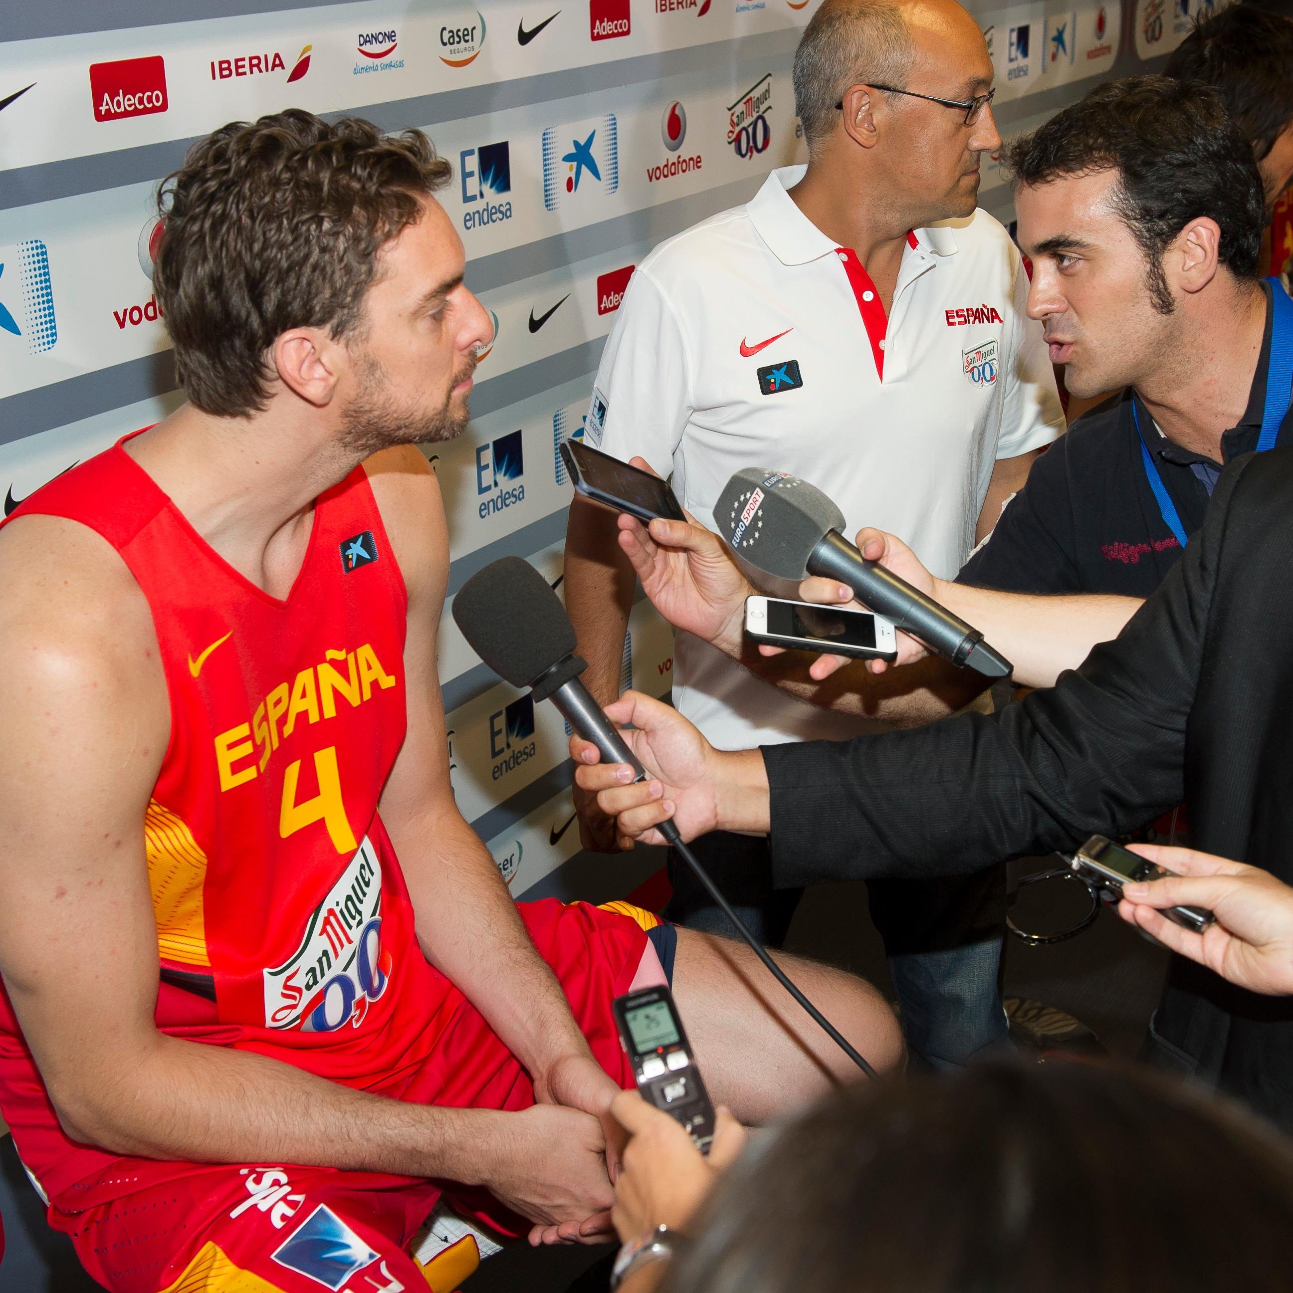
[[[634, 467], [652, 472], [643, 458]], [[685, 521], [653, 520], [644, 526], [621, 513], [619, 547], [632, 562], [643, 592], [675, 627], [728, 654], [741, 650], [745, 599], [754, 592], [723, 540], [687, 513]]]

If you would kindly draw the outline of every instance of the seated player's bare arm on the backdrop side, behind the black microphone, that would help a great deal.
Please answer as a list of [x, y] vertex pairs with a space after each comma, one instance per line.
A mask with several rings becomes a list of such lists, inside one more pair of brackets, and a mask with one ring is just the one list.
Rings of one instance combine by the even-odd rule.
[[[609, 1116], [618, 1086], [592, 1059], [556, 976], [539, 957], [489, 850], [449, 780], [436, 634], [449, 581], [440, 484], [415, 449], [366, 464], [409, 590], [409, 734], [381, 796], [427, 959], [489, 1020], [540, 1100]], [[515, 985], [526, 984], [524, 993]]]

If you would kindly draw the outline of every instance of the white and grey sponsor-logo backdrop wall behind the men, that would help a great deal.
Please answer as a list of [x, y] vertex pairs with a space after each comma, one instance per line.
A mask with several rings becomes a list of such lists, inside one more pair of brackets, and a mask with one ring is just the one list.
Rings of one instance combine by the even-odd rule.
[[[475, 420], [437, 446], [450, 595], [504, 553], [560, 586], [570, 486], [603, 340], [634, 266], [663, 238], [802, 160], [790, 85], [818, 0], [47, 0], [0, 44], [0, 489], [5, 511], [176, 407], [151, 288], [158, 180], [187, 145], [288, 106], [427, 129], [467, 281], [495, 325]], [[1034, 0], [971, 10], [998, 120], [1031, 128], [1094, 79], [1173, 49], [1200, 0]], [[996, 162], [983, 204], [1011, 219]], [[445, 615], [453, 778], [517, 896], [632, 892], [654, 857], [579, 853], [566, 733], [502, 685]], [[671, 634], [639, 603], [623, 681], [666, 693]]]

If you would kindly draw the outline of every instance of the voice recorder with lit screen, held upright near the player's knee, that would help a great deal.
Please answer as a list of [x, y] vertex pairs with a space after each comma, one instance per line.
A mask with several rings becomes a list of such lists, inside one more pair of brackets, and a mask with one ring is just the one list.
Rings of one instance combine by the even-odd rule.
[[619, 1045], [644, 1100], [680, 1122], [701, 1153], [714, 1142], [714, 1106], [668, 988], [643, 988], [612, 1002]]

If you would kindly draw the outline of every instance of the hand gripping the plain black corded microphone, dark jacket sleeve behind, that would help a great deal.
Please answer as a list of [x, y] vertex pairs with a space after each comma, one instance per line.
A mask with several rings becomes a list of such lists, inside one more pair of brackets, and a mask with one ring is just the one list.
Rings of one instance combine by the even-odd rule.
[[[570, 756], [581, 764], [575, 785], [595, 794], [603, 812], [615, 818], [619, 847], [630, 850], [637, 839], [663, 844], [654, 828], [670, 817], [684, 840], [714, 830], [718, 751], [709, 741], [678, 710], [640, 692], [625, 692], [605, 712], [650, 780], [634, 785], [627, 763], [601, 763], [597, 747], [578, 734], [570, 738]], [[632, 729], [625, 729], [626, 723]]]

